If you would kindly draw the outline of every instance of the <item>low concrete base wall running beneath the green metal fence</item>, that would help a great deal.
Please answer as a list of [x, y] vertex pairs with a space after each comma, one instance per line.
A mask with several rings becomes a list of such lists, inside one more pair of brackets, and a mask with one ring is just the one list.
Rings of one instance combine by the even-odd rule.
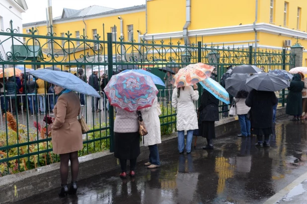
[[[285, 115], [286, 108], [278, 108], [277, 117]], [[216, 122], [216, 136], [230, 134], [239, 130], [240, 125], [236, 117], [229, 117]], [[193, 137], [193, 140], [195, 137]], [[205, 139], [198, 137], [197, 144]], [[192, 147], [194, 141], [192, 142]], [[162, 143], [158, 145], [159, 154], [177, 150], [177, 133], [162, 136]], [[141, 147], [138, 161], [148, 159], [148, 147]], [[119, 161], [109, 151], [92, 153], [79, 157], [78, 180], [92, 177], [107, 171], [117, 169]], [[23, 171], [17, 174], [0, 177], [0, 204], [12, 203], [60, 187], [60, 163]]]

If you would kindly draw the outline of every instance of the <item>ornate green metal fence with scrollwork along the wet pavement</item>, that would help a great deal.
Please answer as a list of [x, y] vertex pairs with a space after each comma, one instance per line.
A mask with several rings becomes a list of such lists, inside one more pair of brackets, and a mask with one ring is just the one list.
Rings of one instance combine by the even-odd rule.
[[[58, 155], [52, 153], [51, 135], [46, 133], [47, 123], [43, 121], [44, 116], [53, 116], [52, 104], [56, 103], [56, 96], [48, 89], [50, 84], [47, 84], [45, 93], [42, 94], [29, 94], [27, 86], [20, 91], [16, 75], [18, 69], [25, 73], [28, 68], [52, 67], [68, 70], [73, 74], [78, 68], [83, 68], [88, 78], [98, 66], [98, 77], [102, 78], [103, 74], [107, 74], [110, 79], [120, 69], [132, 66], [150, 70], [164, 80], [167, 76], [160, 70], [163, 67], [176, 73], [190, 63], [203, 62], [216, 67], [215, 79], [220, 82], [226, 67], [230, 65], [254, 64], [264, 66], [265, 71], [289, 70], [294, 67], [294, 55], [285, 50], [254, 52], [252, 46], [230, 48], [223, 45], [205, 45], [202, 41], [187, 46], [173, 42], [172, 39], [167, 44], [163, 40], [154, 39], [143, 39], [141, 43], [136, 43], [133, 36], [130, 42], [124, 42], [122, 38], [116, 40], [117, 36], [112, 33], [105, 36], [104, 28], [103, 35], [97, 34], [94, 40], [88, 39], [84, 30], [83, 35], [76, 39], [71, 38], [69, 31], [65, 33], [65, 37], [57, 37], [52, 30], [51, 27], [47, 36], [36, 35], [34, 28], [30, 30], [30, 34], [18, 34], [11, 22], [11, 28], [7, 32], [0, 32], [0, 36], [6, 37], [0, 46], [4, 42], [11, 43], [11, 51], [6, 51], [5, 56], [0, 55], [0, 67], [14, 67], [11, 75], [0, 74], [3, 84], [0, 91], [0, 176], [59, 161]], [[21, 40], [23, 38], [24, 41]], [[1, 71], [5, 71], [4, 66]], [[6, 81], [7, 76], [11, 77], [9, 81]], [[16, 90], [13, 94], [5, 91], [11, 84]], [[157, 88], [162, 109], [161, 133], [170, 134], [176, 131], [176, 111], [170, 103], [173, 87]], [[201, 95], [202, 88], [199, 88], [199, 91]], [[114, 149], [113, 125], [116, 113], [112, 106], [109, 106], [107, 111], [105, 95], [102, 90], [99, 90], [99, 93], [102, 96], [99, 101], [101, 112], [92, 112], [92, 99], [87, 96], [85, 105], [81, 107], [91, 130], [83, 135], [83, 149], [79, 156], [108, 149], [113, 152]], [[281, 93], [282, 105], [285, 102], [284, 93]], [[199, 101], [195, 103], [195, 107], [198, 107], [198, 103]], [[40, 108], [35, 109], [35, 106]], [[29, 107], [35, 110], [34, 114]], [[222, 113], [227, 113], [229, 107], [221, 104], [220, 108], [222, 118]], [[12, 115], [8, 111], [15, 114]]]

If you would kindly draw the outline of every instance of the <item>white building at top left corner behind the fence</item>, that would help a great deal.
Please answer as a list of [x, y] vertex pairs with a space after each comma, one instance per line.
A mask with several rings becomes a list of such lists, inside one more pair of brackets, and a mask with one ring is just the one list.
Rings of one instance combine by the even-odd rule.
[[[28, 9], [25, 0], [0, 0], [0, 32], [7, 32], [6, 29], [10, 28], [10, 20], [13, 21], [13, 29], [17, 33], [22, 33], [22, 17], [21, 13]], [[5, 53], [11, 50], [12, 41], [5, 41], [8, 36], [0, 35], [0, 57], [6, 59]], [[20, 42], [22, 38], [18, 39]], [[5, 42], [3, 42], [5, 41]], [[3, 42], [3, 43], [2, 43]], [[17, 40], [14, 45], [20, 44]]]

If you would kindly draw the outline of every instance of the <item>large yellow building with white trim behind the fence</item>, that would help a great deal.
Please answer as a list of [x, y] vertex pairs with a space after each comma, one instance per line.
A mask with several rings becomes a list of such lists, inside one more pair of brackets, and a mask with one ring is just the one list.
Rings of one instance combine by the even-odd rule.
[[[104, 34], [106, 40], [106, 33], [112, 32], [114, 40], [121, 36], [125, 42], [134, 36], [137, 43], [144, 38], [167, 45], [172, 38], [181, 45], [201, 41], [209, 46], [252, 45], [257, 50], [290, 50], [299, 38], [307, 48], [306, 0], [147, 0], [146, 5], [123, 9], [91, 7], [65, 8], [62, 16], [54, 18], [53, 31], [63, 37], [70, 31], [71, 38], [79, 38], [84, 28], [88, 39], [99, 34], [103, 40]], [[24, 24], [23, 32], [32, 27], [39, 35], [47, 34], [46, 21]], [[305, 50], [303, 66], [307, 66]]]

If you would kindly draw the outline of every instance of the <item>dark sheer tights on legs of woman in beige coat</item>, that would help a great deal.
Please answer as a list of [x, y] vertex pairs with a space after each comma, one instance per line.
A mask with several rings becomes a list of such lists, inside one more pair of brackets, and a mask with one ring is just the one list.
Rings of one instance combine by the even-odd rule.
[[78, 152], [60, 154], [60, 159], [61, 184], [67, 184], [69, 160], [71, 160], [72, 182], [77, 181], [77, 176], [79, 173]]

